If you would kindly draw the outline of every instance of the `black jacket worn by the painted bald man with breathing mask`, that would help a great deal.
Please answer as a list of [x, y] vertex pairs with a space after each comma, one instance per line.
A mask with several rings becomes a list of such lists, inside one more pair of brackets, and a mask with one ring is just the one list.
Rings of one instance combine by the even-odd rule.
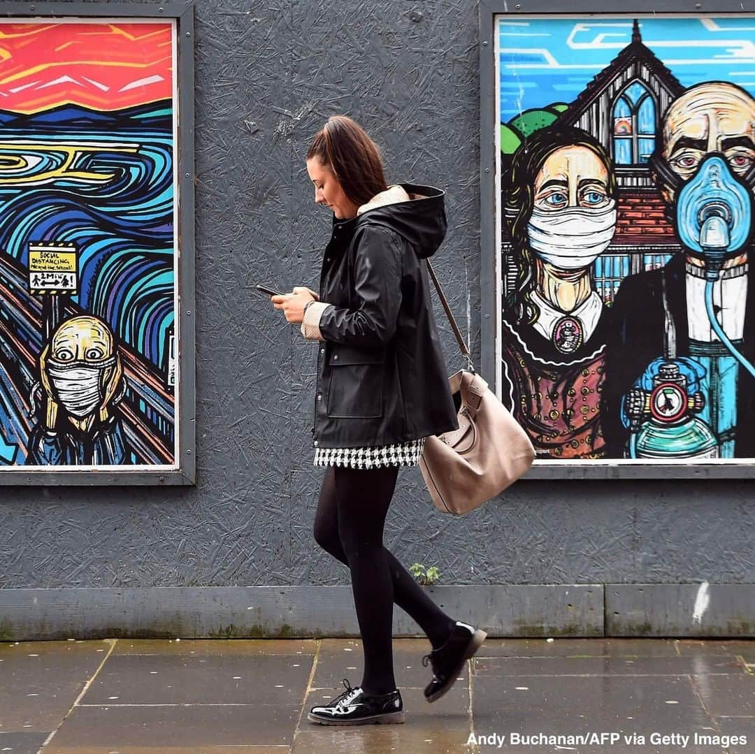
[[[661, 281], [665, 277], [668, 308], [676, 326], [676, 354], [689, 356], [689, 325], [683, 254], [676, 254], [661, 269], [639, 272], [621, 282], [613, 304], [614, 331], [606, 352], [603, 385], [602, 429], [609, 456], [623, 456], [629, 429], [621, 423], [621, 397], [631, 388], [653, 359], [664, 354], [665, 312]], [[744, 343], [740, 348], [750, 362], [755, 360], [755, 280], [748, 272], [744, 314]], [[738, 368], [737, 425], [734, 455], [755, 457], [755, 380]]]

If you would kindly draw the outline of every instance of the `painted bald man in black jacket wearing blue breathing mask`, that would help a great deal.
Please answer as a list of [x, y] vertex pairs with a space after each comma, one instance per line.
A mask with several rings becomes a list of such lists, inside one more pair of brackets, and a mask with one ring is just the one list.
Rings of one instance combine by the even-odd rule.
[[755, 457], [753, 97], [727, 82], [686, 90], [650, 168], [683, 253], [616, 295], [602, 410], [610, 454]]

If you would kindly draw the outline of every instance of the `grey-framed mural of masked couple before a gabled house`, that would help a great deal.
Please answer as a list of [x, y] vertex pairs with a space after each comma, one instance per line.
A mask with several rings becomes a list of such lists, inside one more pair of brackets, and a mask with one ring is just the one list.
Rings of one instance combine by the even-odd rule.
[[480, 8], [485, 377], [530, 477], [751, 477], [755, 13], [560, 8]]

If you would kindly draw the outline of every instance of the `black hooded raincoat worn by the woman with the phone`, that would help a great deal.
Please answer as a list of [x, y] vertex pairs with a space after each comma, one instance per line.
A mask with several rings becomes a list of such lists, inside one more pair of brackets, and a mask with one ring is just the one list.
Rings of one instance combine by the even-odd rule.
[[458, 429], [422, 261], [445, 238], [445, 192], [334, 217], [319, 298], [314, 444], [389, 445]]

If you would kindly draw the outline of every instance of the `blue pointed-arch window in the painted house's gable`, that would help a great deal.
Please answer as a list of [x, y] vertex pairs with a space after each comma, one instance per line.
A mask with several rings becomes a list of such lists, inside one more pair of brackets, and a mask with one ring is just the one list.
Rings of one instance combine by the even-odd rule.
[[616, 165], [648, 162], [655, 149], [655, 100], [642, 82], [635, 81], [619, 94], [613, 107], [613, 144]]

